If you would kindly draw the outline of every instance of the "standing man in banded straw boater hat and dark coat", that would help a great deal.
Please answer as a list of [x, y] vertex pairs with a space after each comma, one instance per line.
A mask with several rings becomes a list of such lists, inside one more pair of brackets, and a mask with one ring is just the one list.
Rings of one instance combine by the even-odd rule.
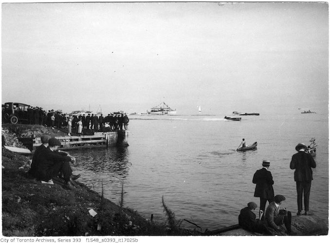
[[[265, 211], [267, 201], [271, 203], [274, 198], [274, 181], [272, 173], [268, 170], [269, 166], [269, 160], [262, 161], [262, 168], [256, 171], [252, 180], [254, 184], [257, 184], [254, 196], [260, 198], [259, 216]], [[261, 219], [263, 218], [264, 216]]]

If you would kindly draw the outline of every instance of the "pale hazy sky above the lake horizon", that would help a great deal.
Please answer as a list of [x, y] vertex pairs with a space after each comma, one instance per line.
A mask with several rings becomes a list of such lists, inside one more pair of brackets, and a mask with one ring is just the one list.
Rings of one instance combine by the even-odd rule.
[[2, 3], [1, 101], [328, 112], [326, 2]]

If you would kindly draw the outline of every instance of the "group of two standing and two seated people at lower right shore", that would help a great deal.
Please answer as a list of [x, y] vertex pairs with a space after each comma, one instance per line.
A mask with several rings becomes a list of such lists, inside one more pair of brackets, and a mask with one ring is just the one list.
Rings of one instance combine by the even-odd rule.
[[[309, 200], [312, 184], [312, 168], [316, 168], [316, 163], [312, 155], [308, 152], [307, 146], [299, 143], [295, 150], [297, 153], [293, 154], [290, 168], [294, 169], [294, 181], [296, 182], [297, 191], [297, 215], [303, 215], [303, 197], [304, 197], [304, 215], [312, 215], [309, 212]], [[285, 201], [283, 195], [274, 196], [274, 180], [272, 173], [269, 171], [270, 161], [264, 160], [262, 168], [257, 170], [253, 176], [252, 182], [256, 184], [254, 196], [260, 198], [259, 217], [253, 212], [257, 208], [255, 202], [249, 202], [247, 207], [240, 210], [238, 216], [238, 224], [249, 231], [272, 235], [272, 230], [282, 231], [285, 226], [286, 233], [292, 235], [291, 229], [291, 211], [286, 208], [281, 208], [280, 205]], [[265, 211], [266, 203], [269, 205]]]

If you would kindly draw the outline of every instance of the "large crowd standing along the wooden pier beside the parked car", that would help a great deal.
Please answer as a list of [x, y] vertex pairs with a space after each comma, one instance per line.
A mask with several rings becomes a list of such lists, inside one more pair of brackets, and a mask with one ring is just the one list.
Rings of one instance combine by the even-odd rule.
[[93, 113], [70, 115], [61, 111], [49, 110], [43, 111], [40, 107], [28, 106], [27, 109], [28, 124], [43, 125], [53, 129], [68, 129], [68, 135], [72, 132], [82, 134], [83, 131], [117, 131], [127, 130], [129, 118], [124, 113], [110, 113], [106, 117], [103, 114], [99, 116]]

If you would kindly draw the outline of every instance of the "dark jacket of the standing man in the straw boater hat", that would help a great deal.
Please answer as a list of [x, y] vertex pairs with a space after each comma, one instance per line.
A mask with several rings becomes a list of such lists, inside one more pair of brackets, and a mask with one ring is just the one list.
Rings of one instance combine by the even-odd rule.
[[253, 176], [252, 182], [257, 184], [254, 195], [255, 197], [266, 199], [274, 198], [273, 176], [266, 168], [258, 169]]

